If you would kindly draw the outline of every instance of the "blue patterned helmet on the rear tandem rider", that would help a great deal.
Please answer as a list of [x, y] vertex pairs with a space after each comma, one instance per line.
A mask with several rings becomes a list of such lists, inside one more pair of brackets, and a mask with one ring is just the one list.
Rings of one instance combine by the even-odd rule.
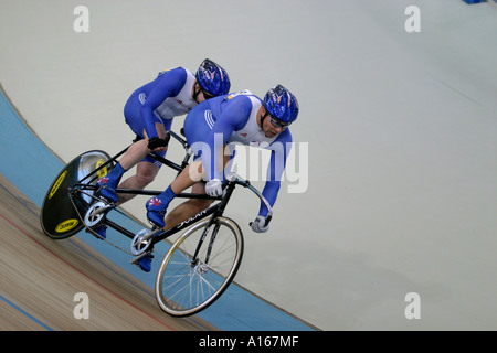
[[200, 87], [212, 96], [222, 96], [230, 92], [228, 73], [212, 60], [205, 58], [200, 64], [195, 77]]

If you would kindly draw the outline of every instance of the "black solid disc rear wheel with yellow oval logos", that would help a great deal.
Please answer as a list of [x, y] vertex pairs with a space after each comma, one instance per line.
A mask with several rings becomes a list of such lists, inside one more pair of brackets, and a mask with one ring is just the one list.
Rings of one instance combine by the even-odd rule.
[[[86, 205], [81, 200], [73, 199], [76, 210], [68, 190], [108, 160], [110, 156], [107, 152], [92, 150], [81, 153], [59, 172], [43, 199], [40, 212], [43, 233], [53, 239], [65, 239], [84, 228], [80, 214], [86, 212]], [[113, 167], [104, 167], [98, 171], [98, 178], [106, 175]], [[96, 180], [89, 184], [96, 184]]]

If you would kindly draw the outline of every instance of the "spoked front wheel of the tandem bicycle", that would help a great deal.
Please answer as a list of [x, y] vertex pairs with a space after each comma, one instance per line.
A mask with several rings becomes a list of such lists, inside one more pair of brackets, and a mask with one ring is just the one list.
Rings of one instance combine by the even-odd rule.
[[[166, 254], [158, 270], [156, 299], [172, 317], [189, 317], [211, 306], [230, 286], [242, 263], [242, 231], [233, 220], [224, 216], [216, 217], [204, 236], [200, 260], [191, 261], [209, 222], [210, 218], [200, 221], [187, 229]], [[205, 264], [207, 248], [215, 231], [213, 253]]]

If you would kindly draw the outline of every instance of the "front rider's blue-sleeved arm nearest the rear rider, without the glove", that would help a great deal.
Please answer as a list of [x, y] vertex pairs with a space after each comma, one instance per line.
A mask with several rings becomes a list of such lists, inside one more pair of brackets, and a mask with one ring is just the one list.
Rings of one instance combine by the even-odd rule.
[[220, 114], [205, 142], [208, 153], [202, 152], [202, 164], [208, 180], [222, 180], [222, 171], [215, 168], [219, 159], [219, 148], [223, 148], [235, 130], [243, 128], [252, 111], [252, 103], [247, 97], [237, 96], [226, 104], [226, 108]]

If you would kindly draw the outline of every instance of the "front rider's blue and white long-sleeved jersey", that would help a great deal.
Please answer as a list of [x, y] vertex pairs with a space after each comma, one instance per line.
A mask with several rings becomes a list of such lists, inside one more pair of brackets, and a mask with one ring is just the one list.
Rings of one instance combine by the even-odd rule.
[[[202, 103], [187, 116], [184, 131], [190, 146], [194, 142], [204, 142], [209, 146], [210, 151], [215, 151], [219, 147], [230, 142], [271, 150], [271, 162], [263, 195], [273, 206], [292, 146], [292, 133], [289, 129], [286, 129], [273, 138], [267, 138], [257, 125], [257, 113], [261, 106], [262, 100], [252, 94], [235, 93], [215, 97]], [[193, 150], [195, 149], [193, 148]], [[214, 168], [218, 165], [218, 153], [202, 153], [201, 156], [208, 179], [222, 180], [221, 172]], [[261, 204], [260, 214], [267, 215], [264, 204]]]

